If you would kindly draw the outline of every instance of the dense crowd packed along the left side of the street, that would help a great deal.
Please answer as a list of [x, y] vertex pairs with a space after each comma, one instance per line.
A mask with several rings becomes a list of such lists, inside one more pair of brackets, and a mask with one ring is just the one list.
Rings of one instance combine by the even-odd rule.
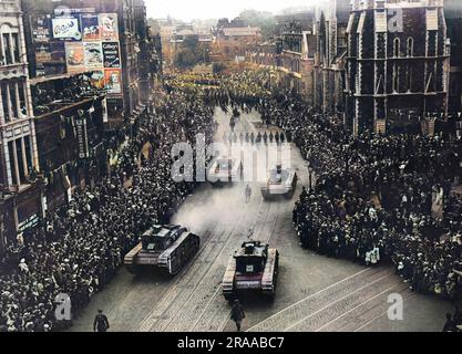
[[[181, 90], [167, 95], [140, 133], [119, 152], [104, 183], [76, 192], [65, 207], [28, 230], [0, 267], [0, 332], [60, 330], [57, 295], [68, 294], [72, 313], [83, 309], [112, 278], [140, 235], [170, 216], [194, 189], [174, 183], [171, 146], [212, 139], [212, 108]], [[156, 134], [156, 132], [161, 134]], [[147, 158], [140, 152], [151, 143]]]

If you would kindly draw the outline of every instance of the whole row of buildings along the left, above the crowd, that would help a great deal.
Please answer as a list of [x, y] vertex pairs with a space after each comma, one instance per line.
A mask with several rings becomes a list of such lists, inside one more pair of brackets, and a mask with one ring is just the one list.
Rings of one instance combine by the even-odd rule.
[[0, 252], [106, 173], [160, 67], [143, 0], [19, 3], [0, 1]]

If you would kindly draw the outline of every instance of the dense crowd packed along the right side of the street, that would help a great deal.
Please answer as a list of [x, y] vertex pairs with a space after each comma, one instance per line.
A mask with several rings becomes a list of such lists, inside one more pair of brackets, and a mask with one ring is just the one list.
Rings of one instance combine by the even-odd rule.
[[367, 266], [391, 261], [412, 290], [455, 299], [462, 197], [453, 187], [462, 142], [443, 134], [355, 137], [336, 115], [320, 114], [283, 90], [268, 93], [268, 80], [251, 73], [228, 77], [226, 88], [212, 90], [209, 100], [256, 108], [309, 162], [316, 188], [304, 189], [294, 210], [301, 244]]

